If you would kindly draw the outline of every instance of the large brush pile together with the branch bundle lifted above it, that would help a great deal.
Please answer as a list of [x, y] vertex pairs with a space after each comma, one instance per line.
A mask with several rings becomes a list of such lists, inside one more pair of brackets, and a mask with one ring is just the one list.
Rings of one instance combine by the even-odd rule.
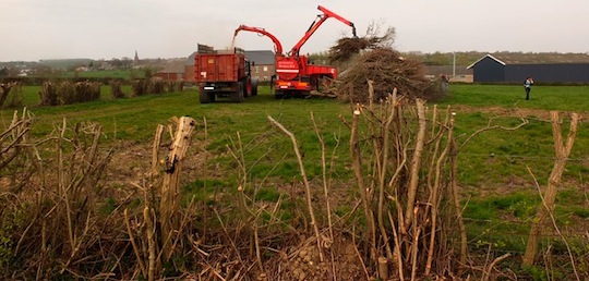
[[425, 78], [419, 61], [402, 58], [390, 46], [395, 28], [381, 33], [380, 25], [372, 23], [363, 37], [340, 38], [329, 48], [329, 61], [342, 69], [336, 83], [324, 91], [336, 94], [339, 99], [368, 102], [369, 81], [372, 81], [373, 101], [384, 100], [397, 88], [399, 95], [409, 99], [432, 100], [440, 90]]

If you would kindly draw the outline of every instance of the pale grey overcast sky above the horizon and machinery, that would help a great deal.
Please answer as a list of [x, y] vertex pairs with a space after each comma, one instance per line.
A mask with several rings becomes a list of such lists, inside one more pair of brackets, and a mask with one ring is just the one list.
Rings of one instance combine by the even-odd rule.
[[[589, 0], [0, 0], [0, 61], [181, 58], [196, 44], [231, 45], [264, 27], [289, 50], [321, 4], [353, 22], [396, 28], [400, 51], [588, 52]], [[327, 20], [301, 49], [329, 48], [350, 28]], [[273, 49], [242, 32], [244, 49]]]

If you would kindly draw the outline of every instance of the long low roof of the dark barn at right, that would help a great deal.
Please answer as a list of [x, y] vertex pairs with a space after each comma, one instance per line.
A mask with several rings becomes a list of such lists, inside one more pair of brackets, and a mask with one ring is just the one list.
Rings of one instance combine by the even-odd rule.
[[501, 63], [503, 65], [514, 65], [514, 64], [565, 64], [565, 63], [589, 63], [588, 53], [520, 53], [520, 52], [510, 52], [510, 53], [488, 53], [486, 56], [480, 58], [472, 64], [468, 65], [467, 69], [474, 66], [485, 58], [491, 58], [492, 60]]

